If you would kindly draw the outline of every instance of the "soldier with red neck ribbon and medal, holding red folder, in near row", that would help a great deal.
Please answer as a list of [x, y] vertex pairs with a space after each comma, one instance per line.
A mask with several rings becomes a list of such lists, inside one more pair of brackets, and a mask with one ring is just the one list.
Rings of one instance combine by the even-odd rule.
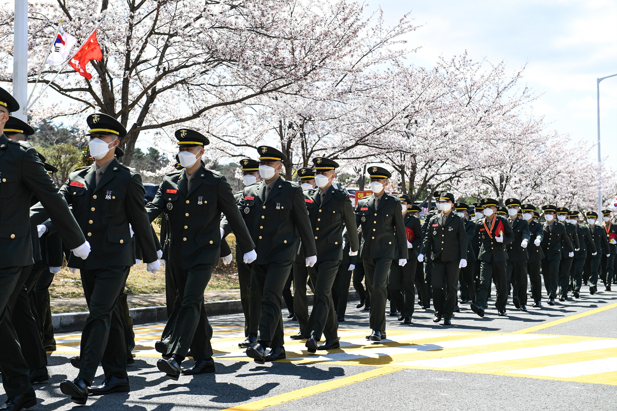
[[484, 307], [486, 307], [487, 296], [491, 289], [491, 280], [495, 280], [497, 287], [497, 312], [500, 316], [505, 316], [505, 305], [508, 301], [508, 291], [506, 288], [506, 271], [508, 252], [507, 246], [514, 240], [514, 232], [505, 218], [495, 214], [497, 210], [497, 200], [492, 198], [482, 199], [481, 205], [484, 207], [484, 218], [476, 222], [476, 228], [480, 232], [482, 245], [478, 259], [480, 265], [480, 285], [476, 293], [476, 304], [471, 304], [471, 310], [484, 317]]

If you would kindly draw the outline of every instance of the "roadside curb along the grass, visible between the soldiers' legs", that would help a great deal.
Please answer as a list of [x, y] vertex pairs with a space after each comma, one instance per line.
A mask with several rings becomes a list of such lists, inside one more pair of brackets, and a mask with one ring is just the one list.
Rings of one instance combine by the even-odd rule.
[[[309, 304], [313, 304], [313, 294], [307, 295]], [[358, 301], [360, 297], [356, 291], [349, 291], [348, 301]], [[237, 314], [242, 312], [240, 300], [222, 300], [205, 302], [205, 312], [208, 315]], [[283, 308], [287, 306], [283, 301]], [[136, 307], [128, 310], [133, 318], [133, 324], [158, 323], [167, 320], [167, 307], [164, 305], [157, 307]], [[65, 312], [51, 315], [51, 323], [54, 326], [54, 333], [72, 333], [81, 331], [86, 325], [88, 312]]]

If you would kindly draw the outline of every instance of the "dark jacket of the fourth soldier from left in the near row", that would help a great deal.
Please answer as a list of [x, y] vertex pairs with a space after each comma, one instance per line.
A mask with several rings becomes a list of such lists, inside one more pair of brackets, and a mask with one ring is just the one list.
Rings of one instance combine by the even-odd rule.
[[266, 199], [265, 186], [265, 181], [246, 186], [238, 202], [251, 238], [257, 244], [255, 264], [295, 260], [296, 230], [304, 255], [317, 255], [302, 188], [279, 177]]

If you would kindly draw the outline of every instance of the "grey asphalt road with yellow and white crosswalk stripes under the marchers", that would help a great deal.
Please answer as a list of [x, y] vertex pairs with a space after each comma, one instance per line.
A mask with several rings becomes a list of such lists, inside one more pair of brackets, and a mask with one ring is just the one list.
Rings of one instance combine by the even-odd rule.
[[[484, 318], [468, 305], [452, 326], [434, 324], [433, 310], [418, 310], [412, 325], [387, 317], [388, 339], [370, 343], [368, 312], [350, 303], [339, 325], [342, 349], [309, 355], [286, 338], [288, 359], [258, 365], [237, 348], [242, 315], [210, 318], [215, 374], [168, 380], [156, 368], [154, 341], [162, 324], [136, 328], [131, 392], [91, 397], [100, 410], [615, 410], [617, 409], [617, 291], [545, 305], [529, 313], [508, 305], [508, 317], [489, 308]], [[491, 307], [492, 302], [489, 302]], [[585, 315], [585, 314], [589, 315]], [[286, 317], [286, 311], [284, 312]], [[286, 335], [297, 323], [285, 318]], [[77, 370], [78, 334], [57, 336], [49, 355], [51, 380], [36, 386], [33, 410], [78, 405], [59, 383]], [[64, 353], [64, 354], [62, 354]], [[190, 367], [193, 360], [186, 360]], [[102, 382], [102, 370], [95, 384]], [[0, 389], [0, 401], [4, 392]]]

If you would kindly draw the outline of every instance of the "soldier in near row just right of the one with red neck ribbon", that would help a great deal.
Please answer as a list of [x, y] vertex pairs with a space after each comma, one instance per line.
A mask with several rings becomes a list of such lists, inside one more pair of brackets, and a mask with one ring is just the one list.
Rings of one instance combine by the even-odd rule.
[[505, 201], [508, 207], [508, 223], [514, 232], [514, 240], [508, 244], [508, 284], [512, 284], [512, 302], [517, 309], [527, 311], [527, 247], [531, 238], [529, 224], [518, 217], [521, 202], [515, 198]]

